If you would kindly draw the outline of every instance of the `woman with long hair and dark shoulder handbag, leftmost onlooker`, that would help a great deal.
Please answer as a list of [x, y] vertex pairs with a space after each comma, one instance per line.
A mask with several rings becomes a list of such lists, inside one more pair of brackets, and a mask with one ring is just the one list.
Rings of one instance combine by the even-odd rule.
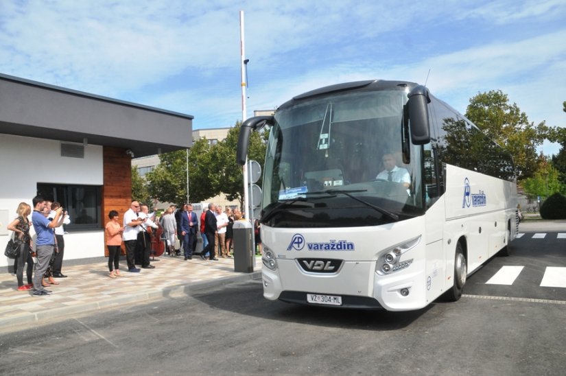
[[[34, 259], [32, 257], [32, 237], [30, 237], [30, 220], [28, 216], [32, 213], [32, 207], [25, 202], [20, 202], [18, 209], [18, 218], [8, 224], [8, 230], [14, 231], [14, 241], [20, 245], [20, 255], [18, 257], [18, 268], [16, 269], [16, 278], [18, 279], [18, 290], [26, 291], [34, 287], [32, 282], [32, 273], [34, 271]], [[26, 277], [27, 285], [23, 284], [23, 266], [27, 263]]]

